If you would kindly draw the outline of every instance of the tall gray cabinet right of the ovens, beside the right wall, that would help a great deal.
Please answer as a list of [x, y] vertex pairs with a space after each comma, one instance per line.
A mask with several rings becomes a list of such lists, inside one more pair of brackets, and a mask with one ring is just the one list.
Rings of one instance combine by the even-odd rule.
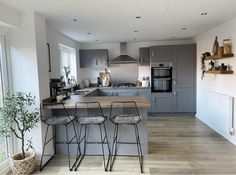
[[196, 111], [196, 45], [173, 46], [173, 112]]

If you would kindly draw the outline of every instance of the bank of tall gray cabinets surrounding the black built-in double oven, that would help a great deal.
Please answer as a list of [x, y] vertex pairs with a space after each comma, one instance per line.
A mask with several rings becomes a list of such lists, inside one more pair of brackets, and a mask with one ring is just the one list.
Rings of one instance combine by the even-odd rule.
[[151, 64], [172, 62], [172, 92], [152, 93], [152, 112], [196, 111], [196, 45], [164, 45], [150, 48]]

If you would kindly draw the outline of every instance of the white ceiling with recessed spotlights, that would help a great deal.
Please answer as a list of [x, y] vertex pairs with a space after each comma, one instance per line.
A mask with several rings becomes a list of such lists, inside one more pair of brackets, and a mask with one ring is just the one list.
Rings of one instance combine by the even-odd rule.
[[[189, 39], [236, 16], [236, 0], [0, 0], [0, 3], [18, 11], [38, 12], [51, 27], [78, 42]], [[203, 12], [208, 15], [201, 16]]]

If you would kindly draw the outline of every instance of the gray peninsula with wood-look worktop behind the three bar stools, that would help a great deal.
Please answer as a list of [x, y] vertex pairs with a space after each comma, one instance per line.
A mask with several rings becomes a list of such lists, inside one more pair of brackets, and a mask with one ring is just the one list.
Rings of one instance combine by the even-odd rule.
[[[140, 140], [142, 145], [143, 155], [148, 154], [148, 135], [147, 135], [147, 110], [150, 107], [150, 101], [144, 96], [96, 96], [95, 93], [97, 89], [91, 90], [87, 95], [72, 95], [70, 99], [64, 101], [65, 107], [68, 109], [70, 115], [74, 115], [74, 107], [76, 102], [85, 102], [85, 101], [98, 101], [101, 104], [101, 108], [104, 112], [104, 115], [109, 117], [110, 107], [112, 101], [135, 101], [139, 110], [139, 114], [142, 117], [142, 121], [138, 124]], [[90, 94], [90, 95], [89, 95]], [[60, 115], [62, 112], [62, 106], [56, 103], [44, 102], [44, 108], [52, 110], [53, 115]], [[114, 124], [109, 120], [106, 121], [106, 128], [109, 137], [109, 143], [111, 146], [111, 141], [113, 137]], [[79, 131], [79, 125], [77, 125]], [[72, 129], [72, 128], [71, 128]], [[88, 132], [88, 140], [99, 141], [100, 135], [98, 126], [90, 126]], [[119, 136], [123, 141], [135, 141], [135, 133], [133, 127], [130, 126], [121, 126], [119, 130]], [[71, 130], [72, 133], [72, 130]], [[56, 130], [57, 140], [63, 141], [65, 138], [64, 130], [62, 128], [57, 128]], [[125, 137], [122, 137], [125, 136]], [[81, 145], [83, 149], [83, 144]], [[66, 154], [66, 147], [64, 145], [57, 145], [57, 154]], [[73, 147], [74, 151], [76, 146]], [[106, 147], [105, 147], [106, 150]], [[89, 145], [87, 146], [88, 154], [100, 155], [101, 145]], [[106, 152], [108, 153], [108, 152]], [[118, 155], [137, 155], [136, 145], [120, 145], [118, 149]]]

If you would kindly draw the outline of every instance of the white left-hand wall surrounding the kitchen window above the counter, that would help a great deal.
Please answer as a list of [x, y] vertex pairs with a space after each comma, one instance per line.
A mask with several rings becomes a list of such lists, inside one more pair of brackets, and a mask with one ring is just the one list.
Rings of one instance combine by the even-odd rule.
[[[60, 78], [60, 52], [58, 46], [59, 43], [76, 49], [77, 67], [79, 67], [79, 56], [78, 56], [79, 43], [57, 32], [56, 30], [52, 29], [49, 25], [46, 25], [46, 32], [47, 32], [47, 42], [50, 44], [50, 52], [51, 52], [52, 70], [50, 72], [50, 78]], [[77, 79], [79, 81], [79, 72], [77, 75]]]

